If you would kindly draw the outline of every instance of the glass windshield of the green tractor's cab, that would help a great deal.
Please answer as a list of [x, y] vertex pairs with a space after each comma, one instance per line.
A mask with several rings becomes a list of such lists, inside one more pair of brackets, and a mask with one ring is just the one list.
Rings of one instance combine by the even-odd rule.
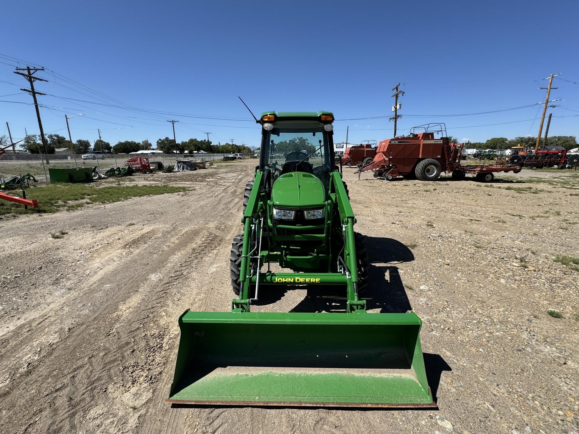
[[300, 171], [314, 174], [324, 182], [323, 178], [329, 174], [332, 165], [328, 154], [328, 133], [320, 129], [296, 133], [295, 130], [274, 128], [267, 133], [265, 165], [274, 178]]

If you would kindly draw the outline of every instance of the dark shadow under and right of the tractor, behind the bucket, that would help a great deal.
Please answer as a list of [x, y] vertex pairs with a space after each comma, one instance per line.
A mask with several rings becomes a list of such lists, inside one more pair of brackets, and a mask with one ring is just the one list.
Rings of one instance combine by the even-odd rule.
[[[368, 310], [386, 313], [404, 313], [412, 310], [396, 264], [413, 261], [412, 251], [400, 241], [386, 237], [366, 237], [368, 248], [368, 285], [360, 293]], [[276, 303], [285, 293], [303, 289], [303, 286], [263, 285], [259, 291], [258, 306]], [[260, 286], [261, 288], [261, 286]], [[331, 285], [311, 285], [306, 296], [290, 312], [345, 312], [345, 291]]]

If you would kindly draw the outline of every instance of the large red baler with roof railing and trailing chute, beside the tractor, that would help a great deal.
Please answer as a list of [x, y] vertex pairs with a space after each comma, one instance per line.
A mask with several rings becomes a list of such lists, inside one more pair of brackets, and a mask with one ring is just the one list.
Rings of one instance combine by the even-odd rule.
[[[435, 139], [435, 133], [441, 133], [442, 137]], [[472, 174], [477, 181], [489, 182], [494, 179], [494, 172], [521, 171], [521, 167], [506, 161], [497, 161], [492, 165], [461, 165], [463, 148], [463, 143], [449, 143], [444, 124], [421, 125], [413, 127], [407, 136], [380, 142], [374, 159], [364, 164], [358, 174], [371, 170], [376, 178], [390, 180], [404, 176], [435, 181], [441, 172], [447, 172], [454, 179], [464, 179], [466, 174]]]

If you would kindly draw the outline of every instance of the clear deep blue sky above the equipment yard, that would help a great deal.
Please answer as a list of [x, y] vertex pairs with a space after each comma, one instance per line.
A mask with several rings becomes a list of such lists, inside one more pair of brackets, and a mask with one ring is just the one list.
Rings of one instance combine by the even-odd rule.
[[[445, 122], [459, 139], [484, 141], [536, 135], [540, 106], [434, 116], [536, 104], [545, 98], [542, 79], [563, 73], [551, 99], [565, 101], [549, 109], [549, 135], [576, 136], [579, 84], [561, 79], [579, 83], [578, 13], [576, 0], [8, 2], [0, 100], [32, 101], [12, 72], [31, 62], [50, 69], [38, 73], [49, 83], [36, 82], [49, 94], [38, 97], [46, 133], [67, 135], [64, 113], [84, 113], [70, 120], [73, 140], [92, 142], [101, 128], [111, 144], [154, 144], [172, 135], [165, 121], [176, 119], [178, 141], [210, 131], [213, 142], [256, 146], [255, 123], [232, 120], [251, 119], [238, 95], [256, 115], [324, 109], [354, 119], [391, 116], [391, 89], [400, 82], [399, 131]], [[34, 106], [0, 102], [0, 114], [0, 134], [6, 121], [16, 138], [24, 128], [38, 133]], [[387, 119], [344, 120], [335, 123], [334, 141], [345, 140], [346, 126], [350, 142], [393, 134]]]

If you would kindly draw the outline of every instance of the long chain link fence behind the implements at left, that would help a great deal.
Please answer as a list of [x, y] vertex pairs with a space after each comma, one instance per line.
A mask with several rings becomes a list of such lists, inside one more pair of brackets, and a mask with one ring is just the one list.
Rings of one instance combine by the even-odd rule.
[[[0, 183], [6, 182], [13, 176], [26, 174], [34, 176], [39, 183], [47, 183], [50, 180], [48, 171], [50, 167], [96, 167], [99, 172], [104, 174], [111, 167], [123, 167], [124, 163], [131, 157], [145, 157], [150, 162], [161, 161], [163, 165], [175, 165], [177, 160], [215, 161], [223, 160], [223, 157], [227, 155], [230, 154], [105, 154], [83, 159], [81, 155], [42, 155], [6, 152], [0, 155]], [[245, 158], [250, 158], [250, 155], [246, 155]]]

